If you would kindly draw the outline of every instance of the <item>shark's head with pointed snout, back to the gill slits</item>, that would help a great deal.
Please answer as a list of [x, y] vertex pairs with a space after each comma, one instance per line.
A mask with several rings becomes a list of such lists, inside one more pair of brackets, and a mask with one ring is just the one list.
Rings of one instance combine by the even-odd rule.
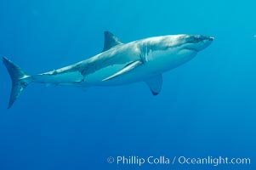
[[[145, 39], [140, 45], [142, 56], [154, 67], [161, 65], [163, 71], [179, 66], [207, 48], [213, 37], [200, 35], [174, 35]], [[151, 62], [153, 61], [153, 62]]]

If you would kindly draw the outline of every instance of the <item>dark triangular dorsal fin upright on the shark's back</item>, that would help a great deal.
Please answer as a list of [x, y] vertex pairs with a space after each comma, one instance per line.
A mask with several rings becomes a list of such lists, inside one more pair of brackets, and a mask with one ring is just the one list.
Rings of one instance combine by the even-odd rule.
[[104, 31], [104, 48], [102, 52], [109, 50], [118, 44], [122, 44], [122, 42], [120, 42], [114, 34], [112, 34], [110, 31]]

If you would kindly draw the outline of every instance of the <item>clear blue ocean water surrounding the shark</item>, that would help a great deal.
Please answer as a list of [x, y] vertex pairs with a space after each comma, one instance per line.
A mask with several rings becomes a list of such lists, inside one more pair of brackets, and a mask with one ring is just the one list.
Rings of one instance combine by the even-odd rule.
[[[98, 54], [103, 31], [122, 42], [168, 34], [215, 37], [163, 75], [154, 97], [142, 82], [111, 88], [31, 84], [7, 110], [0, 65], [0, 170], [255, 169], [256, 23], [253, 1], [0, 2], [0, 56], [27, 73]], [[113, 163], [107, 158], [113, 156]], [[117, 156], [250, 158], [250, 165], [117, 164]]]

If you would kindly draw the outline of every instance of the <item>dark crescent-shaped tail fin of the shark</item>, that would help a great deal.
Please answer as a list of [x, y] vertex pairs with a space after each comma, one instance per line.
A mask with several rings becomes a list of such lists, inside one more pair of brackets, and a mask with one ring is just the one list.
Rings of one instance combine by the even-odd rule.
[[31, 82], [31, 78], [30, 76], [27, 76], [18, 65], [15, 65], [12, 61], [5, 57], [3, 57], [3, 64], [6, 66], [7, 70], [9, 71], [9, 76], [12, 79], [13, 87], [8, 106], [8, 108], [10, 108], [14, 104], [14, 101], [19, 98], [21, 92]]

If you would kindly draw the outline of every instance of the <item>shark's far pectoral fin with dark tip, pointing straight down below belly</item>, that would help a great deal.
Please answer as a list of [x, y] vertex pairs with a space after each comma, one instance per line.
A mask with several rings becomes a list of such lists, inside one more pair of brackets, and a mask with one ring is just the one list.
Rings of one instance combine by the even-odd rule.
[[155, 77], [148, 78], [145, 80], [145, 83], [151, 88], [153, 95], [157, 95], [161, 92], [162, 89], [162, 75], [156, 75]]

